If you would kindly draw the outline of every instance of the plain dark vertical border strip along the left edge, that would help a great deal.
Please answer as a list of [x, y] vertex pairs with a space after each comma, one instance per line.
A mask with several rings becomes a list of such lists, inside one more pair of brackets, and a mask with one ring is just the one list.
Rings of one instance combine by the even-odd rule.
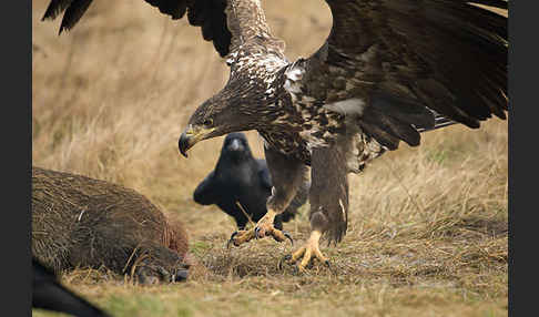
[[[2, 2], [3, 316], [31, 316], [32, 2]], [[4, 201], [7, 200], [7, 202]]]

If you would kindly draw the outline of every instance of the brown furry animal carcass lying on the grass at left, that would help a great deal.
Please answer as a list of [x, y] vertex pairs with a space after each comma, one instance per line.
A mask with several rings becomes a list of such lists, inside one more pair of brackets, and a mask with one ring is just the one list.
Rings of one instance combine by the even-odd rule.
[[176, 280], [187, 245], [183, 223], [133, 190], [32, 168], [32, 254], [57, 273], [105, 266], [141, 283]]

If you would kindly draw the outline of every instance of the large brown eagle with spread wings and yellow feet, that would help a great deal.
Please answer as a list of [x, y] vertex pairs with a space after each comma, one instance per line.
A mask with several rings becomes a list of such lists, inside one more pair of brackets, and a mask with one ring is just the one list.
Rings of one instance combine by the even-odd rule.
[[[260, 0], [145, 1], [172, 19], [186, 14], [230, 67], [225, 86], [191, 115], [180, 152], [237, 131], [264, 139], [273, 181], [267, 213], [230, 242], [285, 241], [274, 219], [311, 173], [309, 237], [287, 257], [299, 270], [312, 259], [328, 264], [321, 238], [336, 244], [346, 234], [349, 173], [400, 142], [419, 145], [424, 131], [506, 119], [505, 0], [325, 0], [330, 32], [295, 61]], [[65, 12], [60, 32], [69, 30], [91, 2], [52, 0], [43, 19]]]

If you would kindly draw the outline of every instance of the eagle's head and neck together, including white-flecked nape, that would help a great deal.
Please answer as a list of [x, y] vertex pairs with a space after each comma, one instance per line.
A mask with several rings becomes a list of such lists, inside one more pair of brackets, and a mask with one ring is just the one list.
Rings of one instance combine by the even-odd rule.
[[278, 113], [270, 105], [286, 94], [277, 73], [284, 72], [287, 62], [282, 55], [268, 54], [262, 64], [245, 54], [231, 67], [225, 88], [196, 109], [182, 133], [177, 145], [185, 157], [187, 150], [202, 140], [273, 126]]

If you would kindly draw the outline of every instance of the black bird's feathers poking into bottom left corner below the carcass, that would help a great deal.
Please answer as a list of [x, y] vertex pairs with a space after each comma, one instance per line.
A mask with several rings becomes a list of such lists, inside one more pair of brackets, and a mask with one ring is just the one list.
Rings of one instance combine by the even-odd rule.
[[103, 310], [62, 286], [52, 270], [32, 258], [32, 307], [79, 317], [105, 317]]

